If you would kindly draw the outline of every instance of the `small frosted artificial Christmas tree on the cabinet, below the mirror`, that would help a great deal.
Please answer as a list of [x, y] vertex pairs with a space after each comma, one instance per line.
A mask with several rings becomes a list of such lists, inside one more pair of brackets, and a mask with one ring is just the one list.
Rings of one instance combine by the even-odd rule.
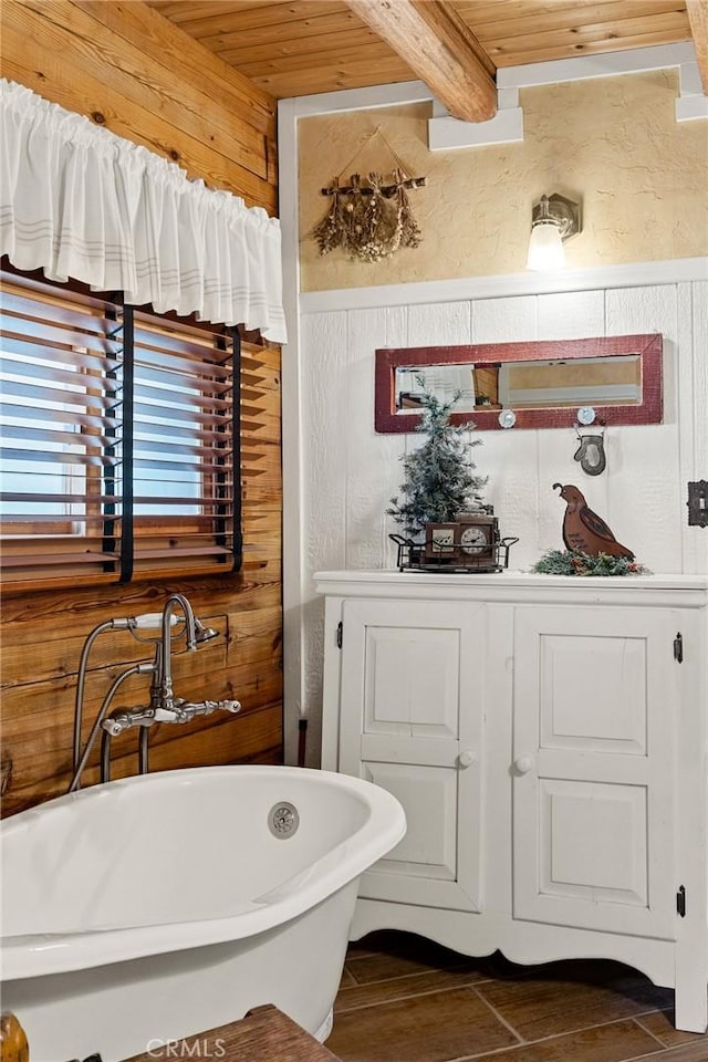
[[450, 413], [459, 399], [457, 392], [449, 402], [440, 402], [425, 389], [425, 379], [417, 376], [421, 388], [419, 402], [423, 420], [417, 429], [427, 440], [413, 454], [402, 458], [405, 480], [400, 485], [403, 498], [391, 499], [386, 513], [402, 524], [407, 535], [415, 537], [426, 523], [446, 523], [457, 513], [479, 511], [482, 508], [482, 488], [486, 476], [476, 476], [476, 465], [468, 450], [481, 444], [480, 438], [468, 441], [465, 434], [472, 423], [450, 424]]

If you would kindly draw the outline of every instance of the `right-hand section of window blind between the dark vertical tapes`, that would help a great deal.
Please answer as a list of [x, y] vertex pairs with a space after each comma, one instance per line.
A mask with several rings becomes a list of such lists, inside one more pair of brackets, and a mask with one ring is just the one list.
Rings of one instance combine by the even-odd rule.
[[134, 570], [231, 570], [241, 548], [238, 335], [136, 311], [133, 351]]

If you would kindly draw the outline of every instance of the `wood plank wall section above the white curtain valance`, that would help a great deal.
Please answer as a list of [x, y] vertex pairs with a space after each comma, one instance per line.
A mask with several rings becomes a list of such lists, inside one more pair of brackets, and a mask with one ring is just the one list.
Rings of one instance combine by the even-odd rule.
[[2, 73], [275, 212], [275, 103], [140, 0], [3, 0]]

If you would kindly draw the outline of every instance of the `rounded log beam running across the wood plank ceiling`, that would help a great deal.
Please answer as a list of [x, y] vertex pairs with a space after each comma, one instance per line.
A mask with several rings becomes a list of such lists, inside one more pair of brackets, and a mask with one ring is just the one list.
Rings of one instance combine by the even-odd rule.
[[444, 0], [345, 0], [428, 86], [452, 117], [487, 122], [497, 113], [496, 67]]

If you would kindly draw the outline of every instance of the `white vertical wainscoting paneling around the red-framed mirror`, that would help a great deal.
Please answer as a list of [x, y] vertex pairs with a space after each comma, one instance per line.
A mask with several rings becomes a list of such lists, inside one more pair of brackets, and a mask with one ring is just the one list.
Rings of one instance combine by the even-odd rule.
[[[310, 719], [310, 761], [320, 747], [323, 659], [312, 576], [395, 566], [388, 535], [398, 529], [385, 510], [399, 492], [402, 456], [418, 445], [415, 434], [374, 431], [375, 350], [662, 333], [663, 423], [608, 425], [602, 476], [586, 476], [573, 460], [573, 428], [480, 433], [472, 458], [489, 477], [486, 500], [501, 534], [519, 538], [512, 569], [528, 571], [546, 550], [563, 548], [564, 506], [552, 485], [573, 482], [650, 571], [706, 573], [708, 530], [688, 527], [686, 501], [688, 481], [708, 478], [707, 264], [613, 267], [605, 283], [593, 270], [586, 287], [582, 272], [566, 283], [555, 274], [556, 291], [544, 280], [534, 290], [527, 274], [518, 283], [472, 280], [468, 298], [459, 280], [300, 295], [293, 361], [283, 366], [285, 539], [300, 542], [290, 564], [287, 558], [285, 636], [290, 629], [291, 691], [300, 687], [291, 705]], [[295, 382], [290, 397], [288, 375]], [[289, 477], [295, 455], [298, 473]]]

